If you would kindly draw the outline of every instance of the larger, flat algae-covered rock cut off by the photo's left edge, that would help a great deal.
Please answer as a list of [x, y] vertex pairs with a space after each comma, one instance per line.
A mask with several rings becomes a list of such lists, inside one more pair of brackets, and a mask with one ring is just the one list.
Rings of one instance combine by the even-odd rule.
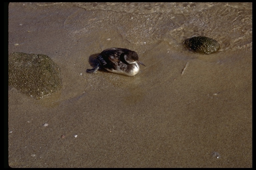
[[13, 52], [8, 58], [9, 86], [40, 99], [61, 89], [60, 70], [44, 54]]

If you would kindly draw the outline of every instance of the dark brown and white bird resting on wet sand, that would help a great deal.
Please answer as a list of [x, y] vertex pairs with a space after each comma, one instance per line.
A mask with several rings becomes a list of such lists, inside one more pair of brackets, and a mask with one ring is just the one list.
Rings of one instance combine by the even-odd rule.
[[134, 76], [140, 71], [140, 64], [145, 66], [137, 52], [126, 48], [108, 48], [103, 50], [96, 58], [97, 65], [87, 69], [87, 73], [95, 73], [100, 66], [112, 73]]

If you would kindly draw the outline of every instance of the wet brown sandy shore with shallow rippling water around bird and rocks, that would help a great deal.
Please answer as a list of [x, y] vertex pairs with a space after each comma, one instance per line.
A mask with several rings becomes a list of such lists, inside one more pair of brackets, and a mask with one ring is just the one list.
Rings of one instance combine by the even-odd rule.
[[[9, 166], [252, 167], [251, 3], [169, 7], [9, 4], [8, 52], [48, 55], [62, 79], [40, 100], [8, 88]], [[194, 35], [220, 51], [185, 49]], [[146, 67], [87, 74], [108, 47], [137, 51]]]

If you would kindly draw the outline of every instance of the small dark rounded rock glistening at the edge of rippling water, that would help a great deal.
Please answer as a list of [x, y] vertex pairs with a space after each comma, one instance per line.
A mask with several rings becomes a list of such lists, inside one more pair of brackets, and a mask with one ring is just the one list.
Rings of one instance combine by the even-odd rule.
[[219, 42], [208, 37], [192, 37], [185, 40], [185, 46], [194, 52], [210, 54], [217, 52], [220, 48]]

